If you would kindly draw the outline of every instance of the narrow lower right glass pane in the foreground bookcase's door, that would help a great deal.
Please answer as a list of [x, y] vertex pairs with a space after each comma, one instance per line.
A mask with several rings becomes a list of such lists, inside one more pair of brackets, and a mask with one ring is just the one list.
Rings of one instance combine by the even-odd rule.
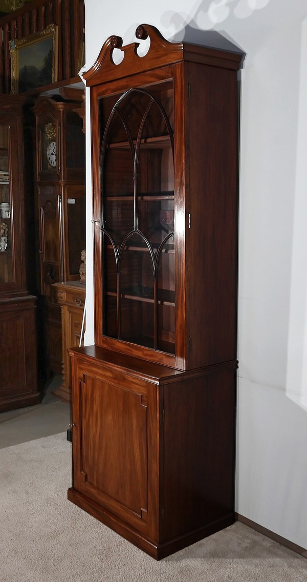
[[158, 257], [158, 349], [175, 353], [174, 235], [160, 247]]

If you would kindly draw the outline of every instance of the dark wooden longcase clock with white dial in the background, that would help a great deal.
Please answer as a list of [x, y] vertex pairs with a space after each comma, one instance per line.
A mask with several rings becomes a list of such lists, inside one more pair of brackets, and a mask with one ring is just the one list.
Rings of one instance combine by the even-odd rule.
[[62, 371], [61, 315], [52, 283], [75, 281], [85, 247], [85, 135], [76, 102], [40, 97], [36, 118], [40, 292], [47, 370]]

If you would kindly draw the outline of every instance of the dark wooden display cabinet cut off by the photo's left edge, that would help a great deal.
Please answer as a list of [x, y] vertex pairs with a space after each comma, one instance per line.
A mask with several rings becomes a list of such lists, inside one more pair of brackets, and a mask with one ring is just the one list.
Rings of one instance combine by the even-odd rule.
[[40, 401], [36, 297], [26, 289], [22, 105], [0, 95], [0, 412]]

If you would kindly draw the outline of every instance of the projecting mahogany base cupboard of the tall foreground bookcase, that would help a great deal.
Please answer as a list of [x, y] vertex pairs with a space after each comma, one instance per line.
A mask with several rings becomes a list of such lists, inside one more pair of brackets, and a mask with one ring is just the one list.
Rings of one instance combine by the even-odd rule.
[[234, 521], [235, 363], [72, 357], [70, 501], [160, 559]]

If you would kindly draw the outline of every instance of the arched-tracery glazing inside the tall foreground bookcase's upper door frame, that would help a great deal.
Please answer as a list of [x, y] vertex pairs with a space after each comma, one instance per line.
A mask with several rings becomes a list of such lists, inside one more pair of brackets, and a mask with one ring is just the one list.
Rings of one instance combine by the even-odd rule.
[[173, 81], [98, 107], [102, 335], [174, 354]]

